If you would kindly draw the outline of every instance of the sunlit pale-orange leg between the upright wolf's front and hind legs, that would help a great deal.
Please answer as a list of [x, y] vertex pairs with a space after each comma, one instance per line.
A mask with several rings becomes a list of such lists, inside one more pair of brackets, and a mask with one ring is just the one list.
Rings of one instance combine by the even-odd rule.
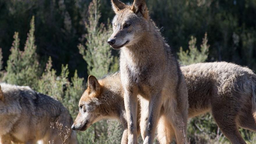
[[169, 144], [175, 137], [173, 127], [161, 116], [157, 125], [157, 140], [160, 144]]

